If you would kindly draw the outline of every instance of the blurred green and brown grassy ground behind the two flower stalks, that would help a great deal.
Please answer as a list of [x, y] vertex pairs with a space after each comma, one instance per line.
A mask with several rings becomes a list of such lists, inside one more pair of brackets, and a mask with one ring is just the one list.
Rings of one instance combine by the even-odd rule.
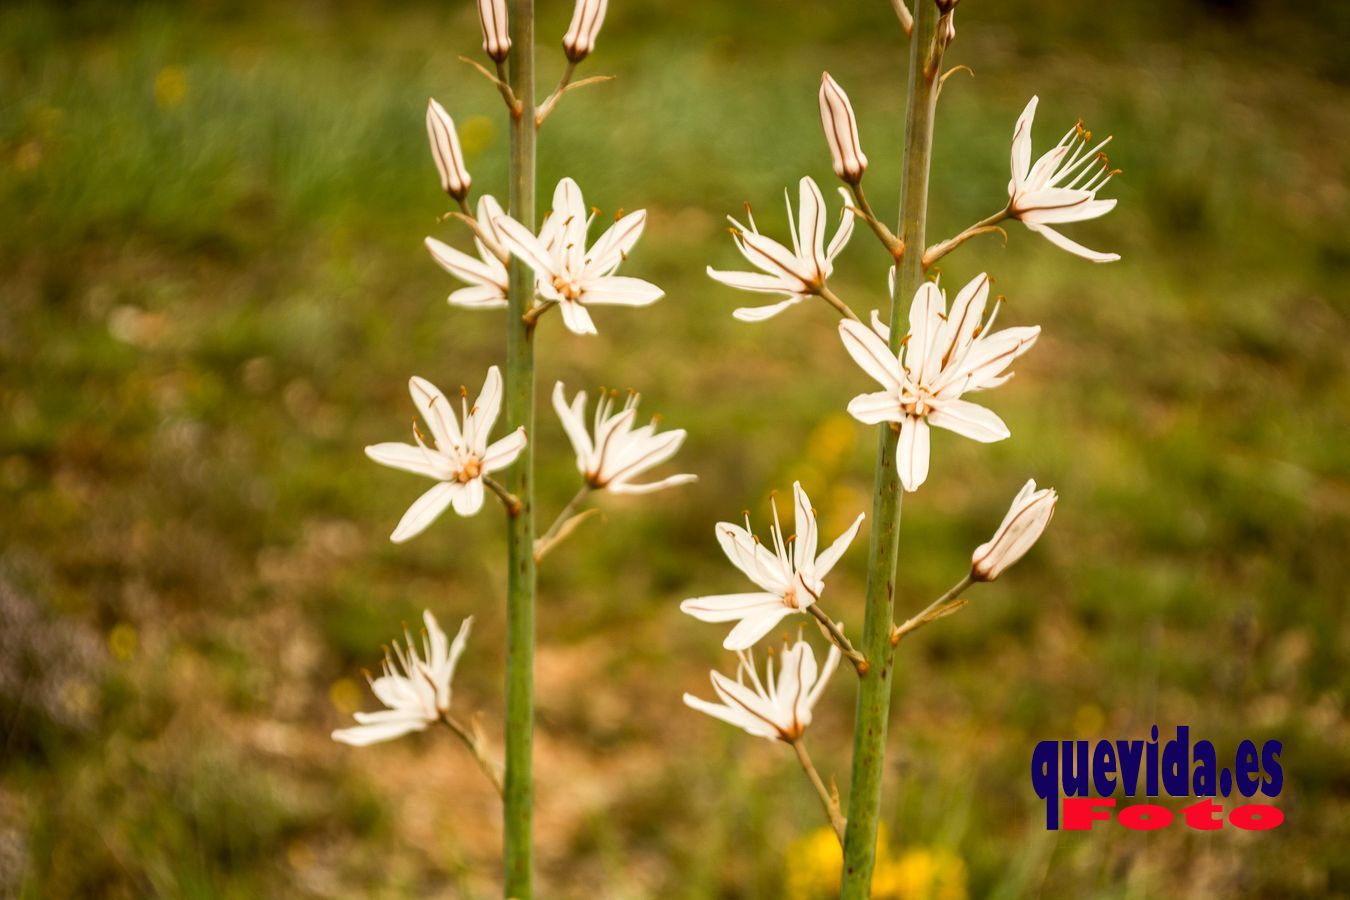
[[[763, 522], [771, 490], [801, 478], [832, 534], [868, 507], [872, 440], [842, 413], [865, 379], [829, 312], [741, 325], [745, 297], [702, 273], [736, 262], [724, 213], [751, 200], [780, 229], [782, 188], [826, 184], [824, 67], [894, 209], [903, 39], [880, 0], [836, 5], [616, 3], [586, 72], [618, 80], [544, 131], [543, 184], [648, 208], [628, 273], [668, 297], [599, 312], [594, 339], [554, 317], [540, 383], [643, 390], [690, 429], [680, 471], [702, 480], [606, 499], [545, 565], [541, 896], [778, 897], [818, 865], [790, 754], [680, 704], [728, 654], [676, 604], [740, 590], [711, 525]], [[541, 3], [545, 82], [568, 12]], [[933, 233], [1002, 201], [1040, 93], [1040, 146], [1077, 116], [1116, 135], [1119, 209], [1072, 233], [1125, 259], [1013, 229], [944, 266], [992, 271], [1003, 321], [1045, 335], [991, 395], [1011, 440], [936, 437], [900, 610], [954, 580], [1029, 475], [1061, 503], [1031, 557], [906, 645], [892, 893], [1350, 892], [1347, 7], [971, 0], [957, 18], [952, 59], [976, 78], [942, 100]], [[505, 186], [500, 101], [455, 59], [477, 45], [467, 0], [0, 9], [0, 893], [495, 889], [495, 803], [446, 735], [328, 739], [423, 607], [478, 617], [456, 704], [501, 721], [495, 515], [393, 548], [420, 486], [360, 455], [406, 430], [409, 374], [475, 385], [501, 358], [501, 318], [448, 309], [418, 247], [456, 233], [433, 221], [428, 94], [475, 188]], [[860, 229], [837, 291], [880, 305], [886, 264]], [[574, 474], [540, 421], [547, 511]], [[849, 622], [864, 544], [829, 590]], [[846, 784], [844, 675], [813, 753]], [[1223, 753], [1284, 739], [1285, 826], [1046, 834], [1034, 743], [1153, 723]]]

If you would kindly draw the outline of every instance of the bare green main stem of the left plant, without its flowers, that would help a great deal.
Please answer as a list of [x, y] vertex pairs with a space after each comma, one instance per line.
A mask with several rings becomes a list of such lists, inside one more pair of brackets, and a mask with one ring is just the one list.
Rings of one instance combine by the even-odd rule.
[[[535, 229], [535, 0], [512, 0], [510, 215]], [[535, 274], [510, 263], [506, 316], [506, 422], [525, 426], [529, 443], [508, 470], [506, 486], [520, 502], [506, 533], [506, 780], [502, 865], [505, 895], [529, 900], [535, 738], [535, 345], [525, 312], [535, 301]]]

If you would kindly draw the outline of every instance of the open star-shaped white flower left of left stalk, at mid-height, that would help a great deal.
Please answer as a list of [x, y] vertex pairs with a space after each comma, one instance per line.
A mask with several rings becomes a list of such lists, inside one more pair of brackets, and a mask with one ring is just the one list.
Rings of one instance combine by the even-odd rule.
[[413, 378], [408, 382], [408, 390], [431, 429], [432, 445], [427, 445], [413, 424], [416, 445], [390, 443], [366, 448], [366, 456], [382, 466], [425, 475], [437, 482], [413, 502], [389, 536], [396, 544], [421, 534], [447, 506], [454, 506], [460, 515], [477, 513], [483, 506], [483, 476], [510, 466], [525, 447], [524, 428], [517, 428], [495, 444], [487, 444], [502, 406], [502, 376], [495, 366], [487, 370], [483, 390], [473, 409], [467, 407], [467, 399], [460, 401], [463, 430], [450, 401], [435, 385], [424, 378]]

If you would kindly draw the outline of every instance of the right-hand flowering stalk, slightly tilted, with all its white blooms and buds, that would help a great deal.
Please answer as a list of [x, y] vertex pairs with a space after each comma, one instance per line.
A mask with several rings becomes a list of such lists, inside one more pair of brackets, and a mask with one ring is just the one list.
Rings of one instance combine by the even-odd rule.
[[[848, 403], [849, 413], [860, 422], [882, 426], [873, 471], [861, 636], [856, 644], [850, 641], [844, 625], [822, 609], [825, 576], [852, 540], [857, 524], [829, 551], [815, 556], [815, 513], [805, 499], [801, 484], [794, 486], [798, 501], [794, 536], [783, 533], [776, 510], [768, 548], [748, 529], [729, 522], [717, 525], [717, 537], [726, 556], [756, 583], [760, 592], [701, 596], [682, 604], [683, 611], [706, 622], [737, 622], [724, 646], [741, 654], [737, 681], [718, 672], [711, 675], [721, 704], [691, 695], [686, 695], [686, 703], [752, 735], [788, 743], [796, 750], [830, 826], [840, 834], [840, 896], [846, 900], [871, 895], [886, 788], [887, 726], [898, 645], [914, 630], [964, 609], [968, 600], [963, 594], [967, 590], [994, 580], [1019, 560], [1040, 538], [1057, 501], [1054, 491], [1037, 490], [1034, 482], [1027, 482], [994, 537], [976, 548], [971, 568], [956, 580], [954, 587], [903, 623], [895, 623], [895, 603], [900, 595], [896, 583], [900, 507], [905, 494], [918, 491], [927, 479], [932, 428], [981, 443], [1008, 437], [1010, 432], [998, 414], [963, 395], [1006, 382], [1008, 366], [1040, 336], [1038, 327], [992, 329], [994, 314], [986, 316], [990, 306], [987, 274], [976, 275], [961, 287], [949, 308], [932, 269], [969, 239], [1002, 232], [999, 223], [1010, 219], [1022, 221], [1077, 256], [1094, 262], [1118, 259], [1115, 254], [1088, 250], [1050, 228], [1110, 212], [1115, 201], [1099, 200], [1096, 194], [1115, 171], [1100, 154], [1106, 142], [1088, 147], [1091, 134], [1081, 124], [1033, 163], [1034, 97], [1014, 131], [1006, 205], [959, 235], [927, 244], [933, 127], [938, 94], [950, 74], [950, 70], [942, 70], [942, 65], [946, 49], [956, 38], [953, 19], [957, 0], [917, 0], [913, 15], [900, 0], [892, 0], [892, 5], [910, 36], [896, 231], [892, 232], [868, 202], [863, 190], [868, 158], [863, 152], [857, 119], [844, 89], [826, 73], [821, 81], [819, 108], [832, 167], [844, 182], [840, 190], [845, 206], [838, 229], [826, 243], [824, 194], [811, 178], [802, 178], [795, 216], [788, 209], [795, 229], [791, 242], [780, 243], [760, 233], [753, 219], [748, 219], [748, 224], [732, 220], [737, 250], [756, 271], [709, 270], [714, 279], [728, 286], [786, 297], [770, 305], [734, 310], [733, 316], [741, 321], [763, 321], [810, 298], [829, 304], [841, 316], [838, 331], [844, 349], [882, 387]], [[879, 239], [892, 263], [890, 318], [882, 322], [873, 317], [871, 327], [863, 324], [853, 308], [829, 286], [836, 256], [848, 242], [856, 219], [861, 219]], [[994, 306], [996, 309], [998, 301]], [[844, 801], [836, 791], [825, 787], [802, 743], [813, 707], [833, 665], [826, 665], [818, 677], [814, 654], [799, 642], [791, 648], [791, 658], [799, 671], [791, 675], [780, 671], [775, 681], [771, 665], [768, 680], [761, 683], [751, 657], [752, 645], [792, 614], [810, 615], [824, 640], [833, 645], [829, 658], [848, 658], [859, 679], [846, 815]], [[803, 685], [813, 690], [806, 691]]]

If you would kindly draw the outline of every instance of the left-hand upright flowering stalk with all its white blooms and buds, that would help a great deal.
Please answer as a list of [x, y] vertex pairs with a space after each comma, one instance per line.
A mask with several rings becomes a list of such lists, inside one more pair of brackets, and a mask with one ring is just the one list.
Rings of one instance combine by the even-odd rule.
[[[535, 509], [535, 341], [544, 316], [558, 309], [567, 331], [594, 335], [591, 309], [603, 305], [645, 306], [663, 291], [645, 281], [616, 275], [643, 233], [645, 210], [616, 217], [594, 242], [587, 240], [593, 212], [572, 178], [563, 178], [552, 209], [536, 232], [536, 138], [559, 101], [575, 88], [603, 77], [572, 81], [576, 66], [594, 50], [605, 18], [605, 0], [575, 0], [572, 22], [563, 35], [566, 66], [558, 86], [541, 103], [535, 94], [533, 0], [477, 0], [483, 51], [493, 70], [473, 61], [491, 81], [510, 119], [509, 212], [489, 194], [477, 208], [468, 201], [473, 178], [464, 166], [455, 123], [432, 100], [427, 134], [440, 186], [458, 209], [441, 217], [468, 228], [477, 256], [436, 237], [425, 244], [432, 259], [466, 283], [450, 294], [452, 306], [505, 310], [505, 379], [497, 366], [487, 371], [478, 399], [470, 406], [467, 390], [458, 402], [423, 378], [409, 383], [423, 425], [413, 425], [413, 443], [375, 444], [366, 453], [375, 461], [435, 480], [404, 514], [390, 536], [394, 542], [425, 532], [447, 509], [462, 517], [477, 514], [490, 493], [506, 517], [506, 685], [505, 765], [491, 753], [477, 718], [467, 723], [451, 707], [451, 679], [464, 652], [471, 619], [451, 644], [435, 615], [424, 615], [421, 646], [412, 634], [392, 645], [385, 673], [371, 683], [386, 708], [358, 712], [358, 725], [333, 738], [364, 746], [443, 723], [473, 753], [478, 766], [501, 793], [504, 807], [504, 896], [533, 896], [533, 773], [535, 727], [535, 609], [536, 569], [540, 560], [595, 510], [582, 509], [602, 493], [648, 494], [694, 480], [671, 475], [636, 482], [679, 449], [684, 432], [659, 432], [656, 422], [637, 425], [637, 394], [616, 405], [617, 395], [598, 401], [594, 430], [586, 424], [586, 393], [566, 399], [562, 382], [554, 387], [554, 407], [576, 459], [580, 486], [552, 524], [536, 540]], [[587, 246], [589, 244], [589, 246]], [[505, 401], [508, 434], [490, 434]], [[456, 414], [456, 407], [459, 414]], [[505, 475], [498, 482], [494, 474]]]

